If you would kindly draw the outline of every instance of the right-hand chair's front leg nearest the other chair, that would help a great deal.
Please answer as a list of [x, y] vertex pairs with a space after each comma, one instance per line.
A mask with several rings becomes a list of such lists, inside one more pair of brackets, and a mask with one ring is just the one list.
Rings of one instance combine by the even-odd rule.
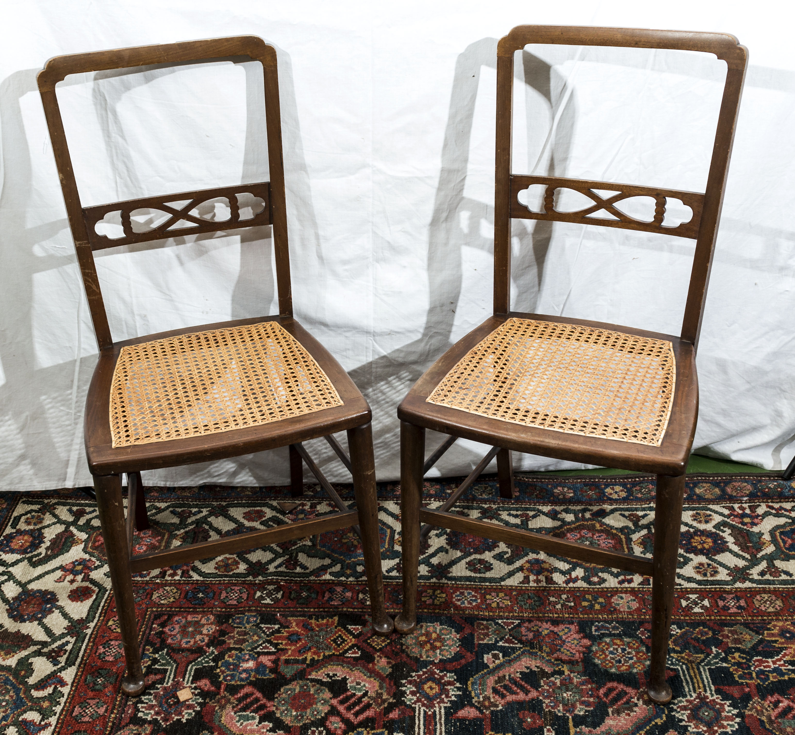
[[395, 620], [397, 632], [417, 628], [417, 574], [420, 566], [420, 506], [425, 429], [401, 422], [400, 508], [403, 563], [403, 611]]

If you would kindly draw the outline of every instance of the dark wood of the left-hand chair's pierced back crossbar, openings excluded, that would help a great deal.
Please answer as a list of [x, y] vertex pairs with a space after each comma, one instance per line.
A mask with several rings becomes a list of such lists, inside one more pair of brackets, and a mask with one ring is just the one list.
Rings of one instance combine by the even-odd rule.
[[[265, 208], [253, 217], [240, 219], [240, 211], [236, 195], [252, 194], [265, 203]], [[215, 220], [202, 219], [190, 214], [192, 209], [199, 207], [200, 204], [210, 199], [224, 197], [230, 205], [230, 219]], [[184, 202], [179, 209], [169, 207], [169, 202]], [[157, 209], [166, 215], [171, 215], [156, 227], [146, 232], [134, 232], [130, 222], [130, 215], [138, 209]], [[109, 212], [121, 211], [122, 226], [124, 235], [120, 238], [109, 238], [107, 235], [98, 234], [96, 231], [97, 222], [102, 222]], [[127, 199], [124, 202], [114, 202], [112, 204], [99, 204], [96, 207], [83, 207], [83, 217], [86, 220], [86, 230], [88, 242], [91, 250], [106, 250], [122, 245], [132, 245], [135, 242], [149, 242], [150, 240], [163, 240], [165, 238], [179, 238], [183, 235], [201, 234], [204, 232], [223, 232], [226, 230], [238, 230], [241, 227], [254, 227], [270, 225], [270, 184], [265, 181], [261, 184], [238, 184], [237, 186], [227, 186], [215, 189], [204, 189], [201, 191], [182, 191], [179, 194], [168, 194], [160, 196], [146, 196], [143, 199]], [[169, 230], [180, 220], [191, 222], [191, 227], [178, 227]]]

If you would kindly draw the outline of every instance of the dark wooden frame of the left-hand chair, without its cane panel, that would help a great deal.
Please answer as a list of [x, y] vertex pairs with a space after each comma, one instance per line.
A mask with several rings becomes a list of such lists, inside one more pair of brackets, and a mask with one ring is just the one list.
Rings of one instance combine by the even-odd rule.
[[[248, 57], [259, 61], [263, 68], [265, 93], [265, 122], [268, 138], [270, 182], [259, 184], [239, 184], [231, 187], [164, 193], [125, 202], [107, 203], [83, 209], [77, 189], [72, 161], [64, 134], [55, 86], [66, 75], [108, 69], [145, 67], [152, 64], [181, 64], [213, 59], [237, 59]], [[141, 656], [138, 649], [138, 632], [135, 620], [135, 606], [132, 595], [130, 574], [132, 572], [168, 567], [176, 563], [188, 563], [196, 559], [207, 559], [221, 553], [234, 554], [249, 548], [273, 544], [284, 540], [353, 527], [363, 537], [363, 550], [370, 608], [374, 630], [387, 633], [392, 629], [392, 621], [386, 615], [383, 599], [380, 547], [378, 544], [378, 504], [375, 497], [374, 458], [372, 434], [370, 432], [370, 406], [356, 388], [351, 378], [343, 370], [328, 350], [301, 327], [293, 318], [293, 301], [289, 273], [289, 251], [287, 238], [287, 213], [285, 207], [284, 161], [281, 149], [281, 114], [279, 108], [279, 87], [277, 75], [277, 55], [273, 46], [261, 38], [242, 36], [211, 39], [208, 41], [188, 41], [180, 44], [161, 44], [139, 48], [118, 48], [111, 51], [57, 56], [48, 61], [38, 75], [41, 99], [45, 108], [56, 167], [64, 192], [69, 226], [75, 241], [80, 272], [86, 289], [91, 319], [94, 323], [99, 344], [99, 361], [91, 379], [86, 401], [85, 443], [88, 465], [95, 475], [95, 487], [99, 504], [100, 522], [107, 548], [108, 566], [111, 570], [114, 598], [119, 614], [119, 625], [124, 644], [127, 675], [122, 680], [122, 691], [130, 696], [141, 694], [145, 687]], [[240, 219], [237, 195], [250, 193], [263, 200], [265, 207], [250, 219]], [[190, 212], [211, 199], [224, 197], [230, 207], [230, 219], [215, 222], [191, 215]], [[188, 201], [182, 207], [168, 207], [168, 203]], [[170, 219], [145, 233], [132, 230], [131, 214], [142, 208], [159, 209], [169, 213]], [[106, 238], [96, 233], [96, 223], [108, 212], [121, 212], [123, 238]], [[190, 222], [191, 227], [169, 230], [176, 222]], [[148, 242], [164, 237], [181, 237], [200, 232], [233, 230], [248, 226], [272, 224], [273, 250], [276, 261], [276, 281], [279, 301], [279, 315], [260, 316], [251, 319], [205, 324], [200, 327], [187, 327], [157, 335], [144, 335], [123, 342], [114, 342], [107, 323], [103, 296], [97, 277], [94, 250], [129, 245], [133, 242]], [[270, 257], [267, 252], [264, 257]], [[110, 389], [114, 368], [122, 347], [156, 339], [184, 335], [198, 331], [209, 331], [228, 327], [238, 327], [263, 321], [277, 321], [289, 334], [301, 342], [312, 355], [324, 373], [332, 381], [343, 405], [313, 412], [291, 419], [274, 421], [256, 427], [192, 437], [172, 439], [133, 447], [114, 448], [111, 442], [109, 421]], [[340, 456], [354, 475], [357, 510], [347, 506], [326, 481], [312, 458], [302, 452], [301, 442], [332, 435], [336, 431], [348, 431], [351, 442], [351, 459], [344, 453]], [[134, 541], [134, 527], [141, 530], [148, 527], [145, 513], [145, 500], [140, 472], [161, 467], [178, 466], [194, 462], [208, 462], [213, 459], [247, 455], [277, 447], [290, 446], [291, 488], [293, 493], [303, 489], [303, 469], [301, 455], [316, 473], [319, 482], [331, 489], [332, 499], [343, 509], [342, 513], [312, 520], [285, 524], [278, 528], [223, 537], [201, 544], [177, 547], [166, 551], [131, 556]], [[332, 443], [332, 447], [335, 445]], [[339, 447], [339, 445], [337, 445]], [[335, 447], [335, 451], [337, 451]], [[337, 452], [339, 455], [339, 451]], [[122, 509], [122, 491], [119, 474], [127, 474], [129, 485], [128, 516], [125, 522]], [[328, 487], [327, 487], [328, 485]], [[357, 520], [362, 519], [359, 530]]]

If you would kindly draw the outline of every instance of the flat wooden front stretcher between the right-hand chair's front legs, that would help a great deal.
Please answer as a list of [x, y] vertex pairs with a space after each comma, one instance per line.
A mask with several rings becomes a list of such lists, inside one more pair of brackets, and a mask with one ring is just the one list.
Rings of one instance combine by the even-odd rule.
[[556, 539], [545, 533], [525, 531], [523, 528], [509, 528], [488, 520], [456, 516], [455, 513], [446, 513], [442, 510], [420, 509], [420, 520], [425, 523], [451, 528], [453, 531], [471, 533], [472, 536], [483, 536], [487, 539], [502, 541], [503, 544], [516, 544], [545, 551], [548, 554], [565, 556], [567, 559], [576, 559], [586, 564], [599, 564], [600, 567], [613, 567], [634, 574], [652, 575], [651, 559], [644, 559], [635, 554], [626, 554], [623, 551], [609, 551], [607, 549], [580, 544], [576, 541]]

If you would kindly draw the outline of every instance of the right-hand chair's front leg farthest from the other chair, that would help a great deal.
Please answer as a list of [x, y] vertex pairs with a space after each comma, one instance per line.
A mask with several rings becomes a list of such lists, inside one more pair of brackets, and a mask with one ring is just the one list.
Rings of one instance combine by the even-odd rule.
[[665, 681], [665, 660], [668, 656], [673, 590], [677, 582], [684, 477], [684, 474], [676, 478], [657, 475], [652, 560], [651, 671], [647, 689], [650, 698], [657, 704], [667, 704], [672, 697], [671, 687]]

